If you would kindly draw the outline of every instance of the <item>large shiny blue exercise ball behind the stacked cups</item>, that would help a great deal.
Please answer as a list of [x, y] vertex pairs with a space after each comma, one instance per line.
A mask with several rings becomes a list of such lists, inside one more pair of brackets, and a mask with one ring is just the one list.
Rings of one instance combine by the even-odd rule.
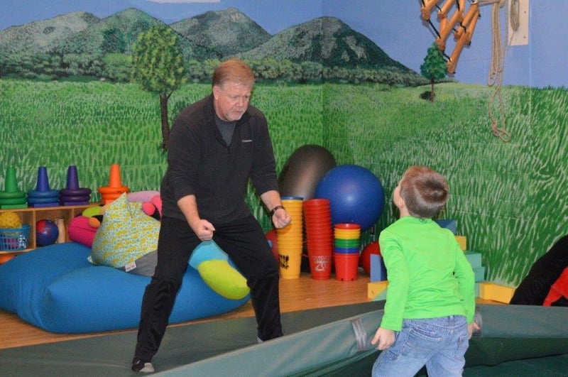
[[385, 207], [385, 192], [378, 178], [359, 165], [339, 165], [318, 182], [315, 197], [328, 199], [333, 224], [373, 226]]

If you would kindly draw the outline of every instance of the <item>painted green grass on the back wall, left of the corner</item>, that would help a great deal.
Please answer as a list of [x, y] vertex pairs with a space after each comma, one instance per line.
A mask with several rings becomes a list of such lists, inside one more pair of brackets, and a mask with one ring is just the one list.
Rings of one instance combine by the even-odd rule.
[[[173, 123], [179, 111], [209, 94], [209, 84], [190, 84], [170, 98]], [[134, 84], [0, 80], [0, 168], [15, 167], [21, 190], [35, 188], [39, 166], [48, 167], [50, 186], [65, 187], [67, 167], [77, 165], [82, 187], [107, 185], [111, 164], [131, 190], [156, 190], [165, 172], [160, 150], [158, 97]], [[258, 86], [254, 105], [263, 109], [275, 154], [288, 156], [322, 140], [321, 87]], [[278, 158], [280, 170], [285, 158]], [[4, 173], [0, 185], [4, 187]], [[270, 219], [251, 190], [246, 200], [268, 229]]]

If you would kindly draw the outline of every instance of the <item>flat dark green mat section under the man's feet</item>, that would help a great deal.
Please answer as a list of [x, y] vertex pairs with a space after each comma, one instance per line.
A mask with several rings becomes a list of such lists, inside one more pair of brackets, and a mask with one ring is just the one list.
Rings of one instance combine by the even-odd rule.
[[[382, 309], [383, 306], [384, 302], [373, 301], [283, 313], [283, 329], [285, 334], [293, 334]], [[133, 330], [65, 342], [0, 349], [0, 376], [139, 376], [130, 371], [135, 344], [136, 330]], [[256, 320], [253, 317], [170, 326], [153, 364], [156, 371], [167, 371], [253, 344], [256, 344]]]

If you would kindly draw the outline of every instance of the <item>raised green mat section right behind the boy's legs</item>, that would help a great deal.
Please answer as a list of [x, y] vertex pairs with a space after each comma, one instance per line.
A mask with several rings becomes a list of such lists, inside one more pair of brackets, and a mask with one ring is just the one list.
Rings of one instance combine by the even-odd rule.
[[[567, 307], [480, 305], [480, 309], [482, 332], [470, 341], [464, 376], [496, 376], [497, 369], [506, 367], [501, 364], [510, 361], [517, 363], [508, 363], [508, 376], [520, 376], [529, 364], [533, 369], [546, 365], [542, 374], [531, 376], [567, 376]], [[383, 310], [376, 310], [324, 324], [159, 376], [370, 376], [378, 356], [370, 340], [382, 314]], [[536, 360], [547, 356], [562, 357], [547, 364]]]

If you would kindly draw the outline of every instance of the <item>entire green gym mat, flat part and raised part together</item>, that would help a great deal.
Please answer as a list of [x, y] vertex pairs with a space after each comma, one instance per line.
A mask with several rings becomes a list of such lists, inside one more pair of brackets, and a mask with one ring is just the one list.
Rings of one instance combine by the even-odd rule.
[[[253, 318], [169, 327], [155, 376], [370, 376], [384, 302], [283, 314], [285, 337], [256, 344]], [[568, 308], [480, 305], [464, 376], [566, 376]], [[2, 376], [131, 376], [136, 332], [0, 350]], [[425, 376], [420, 371], [419, 376]]]

